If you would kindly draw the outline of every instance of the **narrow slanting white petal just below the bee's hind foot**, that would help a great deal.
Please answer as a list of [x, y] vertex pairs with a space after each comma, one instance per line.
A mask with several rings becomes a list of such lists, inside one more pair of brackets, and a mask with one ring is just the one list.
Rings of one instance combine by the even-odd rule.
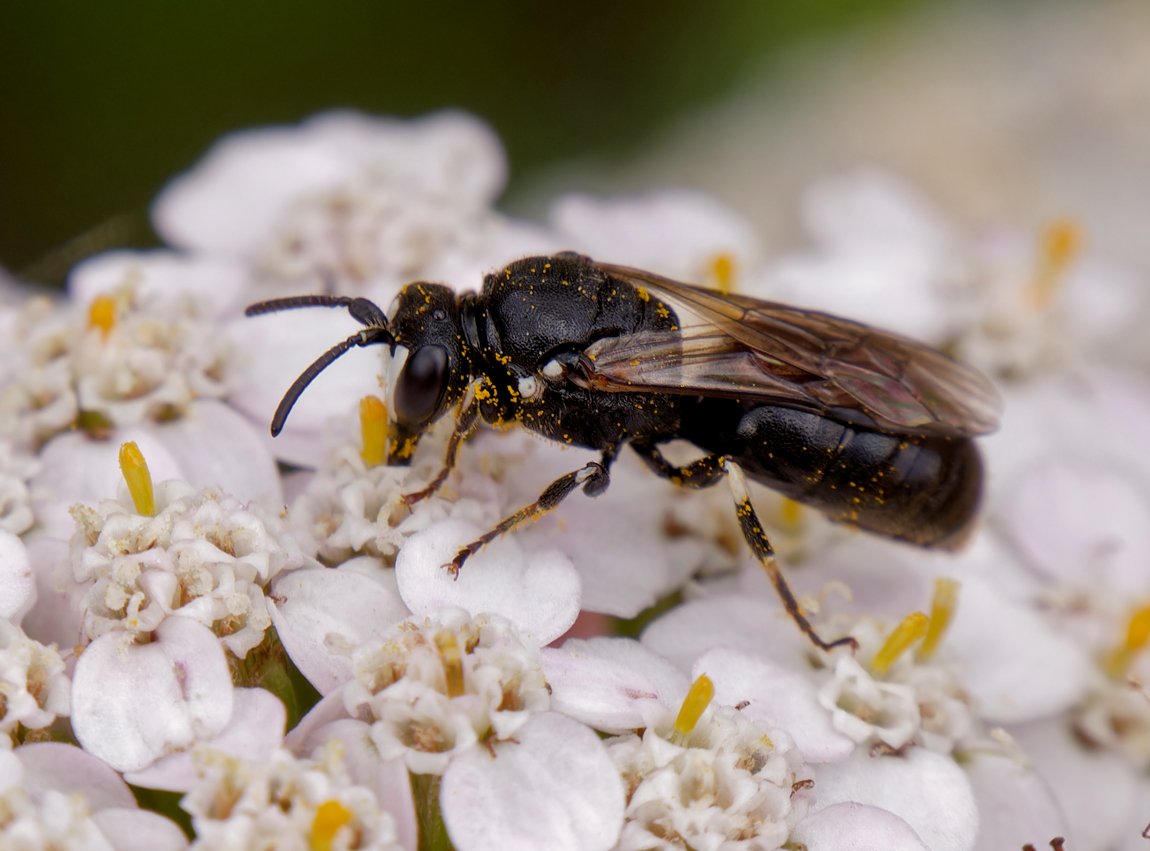
[[699, 657], [691, 676], [699, 674], [714, 682], [715, 703], [747, 702], [743, 715], [789, 733], [808, 761], [835, 762], [854, 750], [854, 742], [834, 728], [819, 704], [819, 687], [811, 676], [730, 650]]

